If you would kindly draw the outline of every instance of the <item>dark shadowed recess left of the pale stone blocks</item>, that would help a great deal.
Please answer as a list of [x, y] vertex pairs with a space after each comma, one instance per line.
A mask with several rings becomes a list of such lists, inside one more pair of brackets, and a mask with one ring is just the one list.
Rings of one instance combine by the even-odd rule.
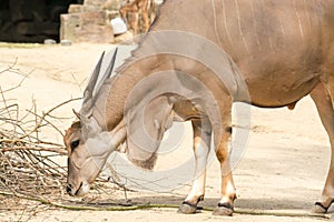
[[60, 14], [80, 0], [0, 0], [0, 41], [59, 41]]

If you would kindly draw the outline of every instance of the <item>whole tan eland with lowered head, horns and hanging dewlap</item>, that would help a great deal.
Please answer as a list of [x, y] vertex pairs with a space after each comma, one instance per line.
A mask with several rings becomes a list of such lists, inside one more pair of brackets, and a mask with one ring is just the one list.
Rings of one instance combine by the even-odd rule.
[[173, 121], [191, 121], [197, 174], [179, 212], [205, 194], [207, 157], [220, 163], [215, 214], [232, 215], [232, 104], [293, 108], [310, 94], [328, 134], [332, 159], [314, 211], [334, 200], [334, 0], [166, 0], [131, 57], [111, 75], [101, 57], [63, 138], [70, 195], [84, 195], [108, 157], [153, 169]]

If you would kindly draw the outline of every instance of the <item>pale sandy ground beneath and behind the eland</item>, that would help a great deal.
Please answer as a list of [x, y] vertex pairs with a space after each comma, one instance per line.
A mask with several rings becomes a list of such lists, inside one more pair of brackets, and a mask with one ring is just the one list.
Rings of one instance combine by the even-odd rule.
[[[10, 64], [30, 75], [22, 85], [8, 98], [16, 99], [24, 110], [36, 100], [39, 111], [81, 97], [85, 80], [89, 77], [100, 53], [112, 49], [111, 44], [60, 46], [16, 46], [0, 43], [0, 70]], [[130, 49], [124, 48], [125, 52]], [[125, 53], [122, 52], [122, 53]], [[125, 56], [124, 56], [125, 57]], [[17, 85], [19, 74], [0, 74], [1, 89]], [[58, 115], [70, 119], [57, 122], [67, 129], [75, 120], [71, 109], [79, 109], [73, 102], [58, 111]], [[46, 133], [43, 137], [61, 142], [61, 138]], [[180, 147], [190, 153], [190, 142]], [[181, 158], [181, 157], [178, 157]], [[63, 161], [65, 160], [60, 160]], [[125, 212], [70, 211], [61, 209], [37, 212], [30, 218], [21, 218], [19, 211], [0, 211], [0, 221], [317, 221], [320, 218], [302, 216], [311, 212], [318, 200], [330, 162], [327, 135], [320, 122], [310, 97], [301, 100], [291, 111], [282, 109], [252, 108], [252, 130], [240, 162], [234, 169], [237, 188], [235, 208], [239, 213], [233, 218], [212, 215], [203, 211], [194, 215], [183, 215], [176, 209], [147, 209]], [[160, 164], [168, 164], [168, 161]], [[219, 198], [219, 167], [213, 161], [208, 169], [205, 201], [200, 205], [215, 208]], [[167, 193], [129, 192], [128, 199], [138, 203], [178, 204], [190, 186], [185, 185]], [[122, 200], [124, 195], [115, 196]], [[262, 211], [269, 215], [253, 215], [242, 212]], [[331, 218], [331, 212], [328, 218]], [[301, 216], [275, 216], [276, 213], [294, 213]]]

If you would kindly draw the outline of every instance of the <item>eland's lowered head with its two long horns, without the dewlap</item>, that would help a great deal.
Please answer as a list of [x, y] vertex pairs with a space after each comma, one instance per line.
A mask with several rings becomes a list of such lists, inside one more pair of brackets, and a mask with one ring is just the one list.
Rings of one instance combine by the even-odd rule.
[[[79, 121], [75, 122], [63, 137], [68, 151], [68, 185], [70, 195], [85, 195], [89, 184], [98, 176], [108, 155], [116, 149], [112, 133], [104, 129], [94, 110], [105, 80], [110, 78], [117, 49], [106, 72], [99, 77], [104, 54], [101, 56], [89, 83], [84, 92], [80, 112], [75, 112]], [[99, 83], [98, 83], [99, 79]]]

